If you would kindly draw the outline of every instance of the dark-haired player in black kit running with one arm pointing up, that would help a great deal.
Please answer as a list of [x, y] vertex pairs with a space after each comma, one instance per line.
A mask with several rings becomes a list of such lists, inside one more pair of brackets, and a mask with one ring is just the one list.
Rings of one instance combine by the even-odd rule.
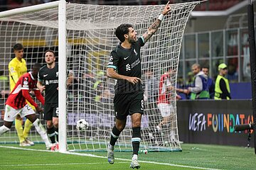
[[110, 53], [110, 62], [107, 66], [107, 77], [117, 79], [114, 93], [116, 120], [111, 132], [110, 145], [107, 147], [107, 158], [110, 164], [114, 164], [115, 142], [125, 128], [127, 115], [131, 115], [133, 156], [130, 167], [133, 169], [139, 169], [140, 167], [138, 151], [141, 140], [141, 120], [144, 113], [140, 49], [156, 33], [164, 16], [170, 10], [171, 6], [169, 6], [168, 2], [159, 18], [154, 21], [140, 38], [137, 38], [137, 32], [130, 24], [121, 24], [115, 30], [115, 34], [121, 42]]

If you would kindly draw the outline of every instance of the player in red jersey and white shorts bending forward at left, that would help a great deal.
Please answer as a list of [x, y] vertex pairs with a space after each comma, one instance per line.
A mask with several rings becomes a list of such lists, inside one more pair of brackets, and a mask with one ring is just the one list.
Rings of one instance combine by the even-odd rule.
[[33, 123], [36, 131], [39, 133], [39, 135], [41, 135], [43, 141], [46, 143], [46, 149], [50, 149], [52, 145], [48, 140], [46, 130], [43, 128], [40, 120], [36, 118], [35, 111], [33, 111], [28, 103], [26, 103], [26, 101], [30, 102], [36, 108], [37, 112], [43, 111], [43, 109], [38, 106], [29, 95], [29, 91], [34, 91], [36, 98], [38, 98], [38, 100], [44, 104], [43, 96], [41, 95], [41, 92], [36, 88], [37, 74], [40, 67], [41, 64], [34, 64], [32, 72], [23, 74], [23, 76], [18, 79], [14, 90], [11, 91], [11, 94], [6, 101], [4, 125], [0, 127], [0, 135], [10, 130], [16, 115], [20, 114], [21, 118], [26, 117], [31, 121], [31, 123]]

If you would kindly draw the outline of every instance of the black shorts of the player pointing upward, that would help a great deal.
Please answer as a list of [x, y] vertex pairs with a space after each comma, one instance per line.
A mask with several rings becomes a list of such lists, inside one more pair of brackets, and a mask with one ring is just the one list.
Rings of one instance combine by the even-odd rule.
[[144, 97], [142, 91], [131, 94], [116, 94], [114, 96], [114, 114], [119, 120], [124, 120], [127, 115], [144, 113]]

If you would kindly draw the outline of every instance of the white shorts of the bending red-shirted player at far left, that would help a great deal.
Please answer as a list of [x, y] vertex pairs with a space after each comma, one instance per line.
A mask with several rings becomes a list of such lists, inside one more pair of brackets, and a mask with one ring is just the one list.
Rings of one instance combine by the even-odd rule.
[[7, 122], [13, 122], [16, 118], [16, 115], [20, 114], [21, 118], [25, 117], [26, 115], [32, 115], [35, 114], [35, 111], [33, 111], [33, 108], [26, 104], [23, 108], [15, 109], [12, 108], [9, 105], [6, 105], [5, 111], [4, 111], [4, 120]]

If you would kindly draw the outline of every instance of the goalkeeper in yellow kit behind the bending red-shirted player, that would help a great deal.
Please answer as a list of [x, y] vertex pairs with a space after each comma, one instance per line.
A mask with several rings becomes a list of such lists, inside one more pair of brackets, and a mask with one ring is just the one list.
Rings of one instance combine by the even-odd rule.
[[[23, 59], [23, 45], [19, 43], [14, 45], [14, 54], [14, 59], [9, 62], [10, 91], [13, 91], [14, 86], [18, 81], [18, 78], [27, 72], [26, 61]], [[35, 107], [32, 106], [31, 103], [28, 103], [28, 105], [31, 106], [31, 108], [33, 108], [33, 110], [35, 111]], [[32, 125], [33, 124], [31, 123], [31, 121], [26, 119], [23, 130], [21, 115], [17, 115], [15, 120], [15, 128], [21, 147], [34, 145], [33, 142], [28, 140], [28, 132], [29, 130], [31, 130]]]

